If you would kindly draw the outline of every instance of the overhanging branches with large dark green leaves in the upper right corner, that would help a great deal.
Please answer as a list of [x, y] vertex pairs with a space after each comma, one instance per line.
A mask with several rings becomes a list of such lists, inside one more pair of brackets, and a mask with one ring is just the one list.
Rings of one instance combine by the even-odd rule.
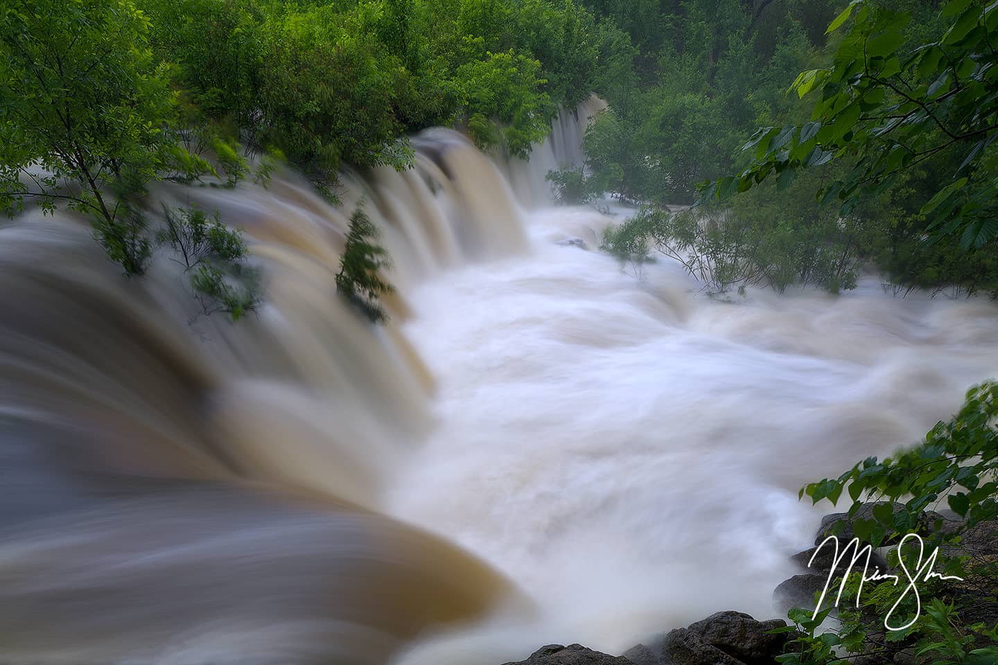
[[[828, 27], [846, 25], [830, 67], [802, 72], [791, 90], [815, 93], [810, 121], [763, 128], [746, 145], [751, 164], [738, 176], [702, 185], [704, 198], [728, 198], [770, 175], [783, 182], [801, 168], [851, 165], [825, 187], [847, 216], [861, 195], [882, 192], [905, 171], [952, 163], [921, 213], [963, 247], [998, 235], [998, 3], [950, 0], [944, 30], [902, 30], [911, 12], [852, 0]], [[907, 35], [914, 35], [914, 39]]]

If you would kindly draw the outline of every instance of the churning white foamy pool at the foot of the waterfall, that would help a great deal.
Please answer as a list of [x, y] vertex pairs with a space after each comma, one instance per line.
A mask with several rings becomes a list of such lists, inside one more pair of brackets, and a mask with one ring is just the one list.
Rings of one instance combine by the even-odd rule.
[[998, 369], [990, 303], [896, 298], [873, 277], [839, 297], [720, 302], [668, 260], [636, 279], [554, 242], [592, 247], [604, 223], [537, 212], [528, 255], [412, 294], [406, 333], [437, 378], [437, 423], [389, 512], [544, 610], [415, 661], [518, 660], [551, 642], [619, 653], [721, 609], [776, 616], [786, 557], [831, 511], [798, 489], [916, 443]]

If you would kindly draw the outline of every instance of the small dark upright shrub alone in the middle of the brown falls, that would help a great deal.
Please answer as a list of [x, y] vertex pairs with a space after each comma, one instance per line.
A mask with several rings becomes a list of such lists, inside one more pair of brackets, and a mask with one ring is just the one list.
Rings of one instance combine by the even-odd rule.
[[377, 239], [378, 230], [370, 217], [361, 208], [354, 210], [336, 274], [336, 291], [372, 323], [383, 323], [388, 316], [380, 299], [394, 289], [379, 274], [390, 261]]

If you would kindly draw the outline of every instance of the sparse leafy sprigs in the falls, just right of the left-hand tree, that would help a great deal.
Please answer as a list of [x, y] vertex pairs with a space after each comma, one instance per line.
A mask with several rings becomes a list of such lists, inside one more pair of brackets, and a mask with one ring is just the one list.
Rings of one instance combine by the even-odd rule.
[[164, 207], [164, 218], [159, 239], [190, 274], [205, 314], [226, 312], [236, 321], [253, 311], [259, 304], [259, 275], [247, 262], [243, 234], [222, 223], [218, 212], [209, 217], [197, 207]]

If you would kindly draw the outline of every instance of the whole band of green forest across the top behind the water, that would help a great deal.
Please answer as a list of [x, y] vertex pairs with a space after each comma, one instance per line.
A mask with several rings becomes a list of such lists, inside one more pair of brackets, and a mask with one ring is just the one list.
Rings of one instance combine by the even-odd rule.
[[609, 108], [585, 165], [551, 179], [567, 202], [643, 206], [607, 237], [625, 260], [693, 252], [721, 293], [835, 292], [873, 267], [896, 291], [998, 294], [994, 3], [5, 7], [0, 202], [86, 212], [129, 273], [150, 254], [140, 202], [157, 179], [231, 186], [247, 151], [327, 187], [343, 166], [409, 166], [406, 137], [436, 125], [523, 157], [595, 93]]

